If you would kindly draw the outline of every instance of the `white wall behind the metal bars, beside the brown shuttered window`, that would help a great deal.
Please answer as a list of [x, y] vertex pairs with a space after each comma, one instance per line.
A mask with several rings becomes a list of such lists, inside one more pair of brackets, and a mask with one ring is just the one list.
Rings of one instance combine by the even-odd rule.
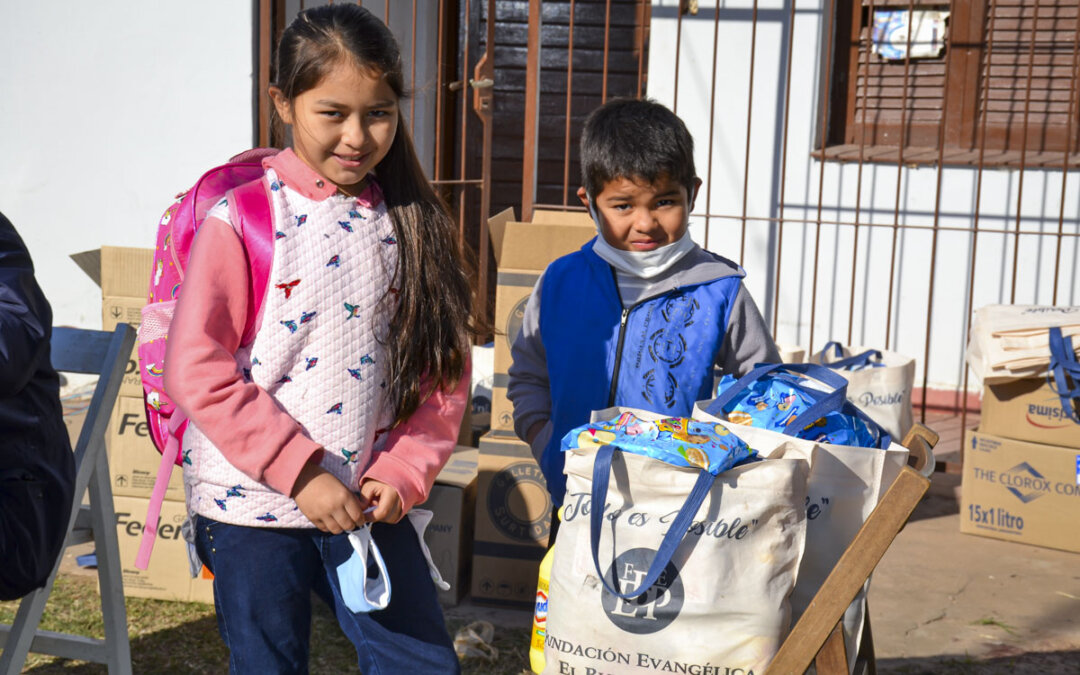
[[[674, 106], [696, 141], [694, 162], [705, 180], [698, 197], [691, 232], [705, 242], [702, 214], [727, 214], [735, 218], [712, 218], [707, 227], [708, 248], [740, 260], [747, 270], [746, 284], [762, 312], [779, 318], [778, 341], [802, 345], [810, 340], [811, 307], [815, 305], [813, 349], [826, 340], [846, 341], [849, 308], [854, 312], [852, 338], [855, 343], [891, 349], [916, 357], [916, 387], [921, 387], [926, 364], [927, 323], [931, 322], [929, 355], [930, 388], [953, 388], [963, 381], [963, 350], [969, 305], [975, 308], [1013, 299], [1012, 269], [1018, 259], [1015, 302], [1051, 305], [1055, 268], [1058, 275], [1057, 303], [1080, 305], [1078, 257], [1080, 238], [1063, 239], [1059, 261], [1056, 238], [1015, 237], [969, 232], [946, 228], [1015, 231], [1017, 213], [1023, 232], [1057, 232], [1064, 219], [1066, 233], [1080, 231], [1080, 175], [1066, 179], [1062, 201], [1062, 171], [986, 170], [982, 192], [975, 201], [977, 172], [947, 167], [942, 172], [941, 216], [937, 254], [933, 264], [933, 313], [928, 312], [931, 287], [931, 248], [937, 170], [903, 168], [866, 164], [859, 189], [856, 164], [826, 162], [810, 157], [818, 143], [821, 120], [816, 114], [824, 58], [823, 18], [828, 2], [797, 0], [794, 24], [792, 0], [758, 2], [757, 46], [755, 50], [753, 110], [747, 110], [753, 0], [701, 0], [697, 16], [684, 16], [678, 49], [677, 98], [675, 57], [678, 0], [653, 0], [649, 45], [649, 96]], [[719, 3], [720, 21], [715, 22]], [[788, 31], [794, 31], [787, 151], [783, 156], [784, 87]], [[714, 77], [714, 35], [716, 68]], [[716, 85], [715, 99], [711, 96]], [[711, 112], [712, 111], [712, 112]], [[750, 171], [744, 171], [750, 122]], [[715, 124], [710, 133], [710, 119]], [[781, 170], [784, 167], [783, 193]], [[901, 230], [895, 244], [896, 274], [893, 279], [891, 322], [889, 260], [893, 255], [894, 206], [899, 224], [928, 226], [924, 230]], [[745, 227], [743, 191], [746, 190]], [[819, 194], [821, 195], [819, 199]], [[860, 210], [858, 252], [850, 226], [786, 224], [782, 228], [766, 218], [816, 219], [850, 222]], [[762, 220], [754, 220], [761, 218]], [[773, 252], [782, 234], [779, 305], [773, 312], [777, 260]], [[815, 235], [820, 235], [814, 257]], [[972, 251], [974, 293], [968, 297]], [[852, 261], [856, 261], [852, 280]], [[814, 265], [818, 266], [813, 293]], [[970, 387], [974, 388], [972, 381]]]

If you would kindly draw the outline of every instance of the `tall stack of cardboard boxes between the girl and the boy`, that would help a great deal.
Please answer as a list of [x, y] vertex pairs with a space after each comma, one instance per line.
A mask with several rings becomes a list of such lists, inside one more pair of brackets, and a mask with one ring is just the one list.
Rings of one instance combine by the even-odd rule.
[[537, 279], [555, 258], [596, 234], [583, 213], [538, 211], [532, 222], [504, 211], [488, 221], [498, 264], [491, 431], [480, 440], [472, 596], [480, 603], [531, 607], [548, 546], [551, 498], [529, 446], [513, 432], [507, 399], [510, 348], [521, 332]]

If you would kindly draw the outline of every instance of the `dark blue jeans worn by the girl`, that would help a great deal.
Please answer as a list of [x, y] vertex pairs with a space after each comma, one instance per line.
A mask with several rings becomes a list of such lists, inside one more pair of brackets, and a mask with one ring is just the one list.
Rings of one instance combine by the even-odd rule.
[[390, 605], [353, 613], [337, 567], [352, 555], [347, 535], [244, 527], [195, 518], [195, 549], [214, 572], [217, 627], [229, 672], [307, 673], [311, 593], [334, 610], [364, 675], [460, 673], [435, 585], [408, 519], [372, 526], [390, 575]]

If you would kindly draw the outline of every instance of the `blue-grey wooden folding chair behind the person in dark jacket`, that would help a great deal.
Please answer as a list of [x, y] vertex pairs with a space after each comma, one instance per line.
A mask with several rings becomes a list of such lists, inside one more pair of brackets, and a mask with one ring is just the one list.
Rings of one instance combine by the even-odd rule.
[[[105, 429], [120, 391], [124, 368], [135, 345], [135, 330], [120, 324], [113, 333], [53, 328], [53, 367], [66, 373], [97, 374], [97, 387], [86, 410], [86, 421], [75, 446], [75, 499], [67, 525], [64, 548], [94, 541], [97, 553], [97, 579], [102, 592], [105, 639], [41, 631], [38, 623], [59, 570], [63, 551], [45, 585], [25, 596], [18, 605], [15, 622], [0, 625], [0, 674], [14, 675], [22, 670], [27, 652], [49, 653], [65, 659], [105, 663], [110, 675], [130, 675], [131, 647], [127, 642], [127, 613], [124, 608], [123, 580], [117, 540], [117, 516], [109, 486], [109, 463], [105, 455]], [[83, 497], [90, 492], [90, 504]]]

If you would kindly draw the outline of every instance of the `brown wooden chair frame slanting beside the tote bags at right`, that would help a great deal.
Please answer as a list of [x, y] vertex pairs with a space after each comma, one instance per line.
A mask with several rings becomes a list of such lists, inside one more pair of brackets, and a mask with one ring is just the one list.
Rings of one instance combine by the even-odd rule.
[[[818, 675], [848, 675], [843, 646], [843, 612], [863, 588], [893, 539], [904, 528], [927, 490], [930, 480], [922, 470], [933, 457], [937, 434], [916, 424], [901, 445], [912, 453], [893, 484], [840, 556], [810, 606], [784, 639], [766, 675], [802, 675], [812, 663]], [[859, 661], [863, 662], [860, 664]], [[869, 612], [863, 627], [855, 672], [876, 673]]]

